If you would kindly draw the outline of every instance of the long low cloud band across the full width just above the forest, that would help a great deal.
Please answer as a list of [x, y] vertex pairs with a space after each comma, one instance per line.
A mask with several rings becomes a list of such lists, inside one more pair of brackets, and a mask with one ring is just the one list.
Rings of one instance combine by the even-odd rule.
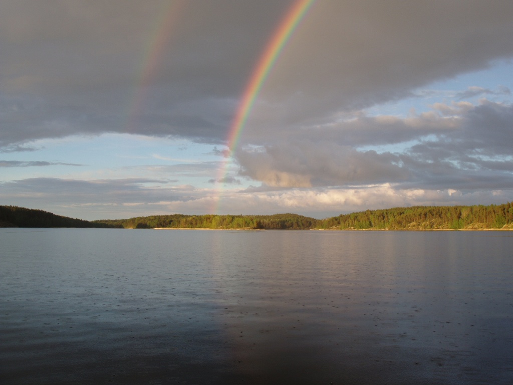
[[[353, 187], [197, 189], [162, 180], [65, 180], [32, 178], [0, 183], [0, 204], [40, 208], [82, 219], [121, 219], [156, 214], [275, 214], [326, 218], [352, 211], [411, 205], [499, 204], [513, 190], [467, 191], [406, 188], [394, 184]], [[21, 204], [23, 202], [23, 204]], [[215, 210], [215, 211], [214, 211]]]

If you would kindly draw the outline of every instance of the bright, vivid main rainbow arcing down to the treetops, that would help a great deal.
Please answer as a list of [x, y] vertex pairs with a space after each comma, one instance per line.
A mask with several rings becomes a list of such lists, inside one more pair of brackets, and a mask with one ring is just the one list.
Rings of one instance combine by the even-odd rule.
[[[303, 20], [306, 12], [314, 2], [315, 0], [296, 0], [267, 43], [264, 53], [260, 56], [257, 66], [255, 66], [251, 77], [249, 78], [249, 82], [246, 85], [241, 101], [239, 103], [239, 108], [235, 113], [235, 117], [228, 131], [227, 142], [229, 156], [220, 169], [221, 172], [217, 182], [218, 185], [222, 186], [226, 180], [231, 154], [235, 151], [235, 148], [239, 144], [239, 140], [241, 138], [242, 131], [244, 130], [244, 126], [246, 125], [246, 121], [249, 117], [251, 109], [253, 108], [255, 100], [257, 100], [258, 94], [260, 93], [260, 90], [262, 89], [262, 86], [267, 79], [269, 72], [280, 56], [280, 53], [283, 51], [283, 48], [288, 42], [290, 36], [299, 25], [301, 20]], [[219, 187], [218, 197], [216, 199], [216, 207], [214, 209], [215, 213], [219, 213], [221, 204], [221, 192], [222, 187]]]

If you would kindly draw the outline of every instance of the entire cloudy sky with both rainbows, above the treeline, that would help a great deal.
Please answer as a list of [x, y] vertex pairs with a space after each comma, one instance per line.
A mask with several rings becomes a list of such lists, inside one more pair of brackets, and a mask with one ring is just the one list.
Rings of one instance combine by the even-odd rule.
[[510, 0], [0, 0], [0, 205], [513, 201], [511, 36]]

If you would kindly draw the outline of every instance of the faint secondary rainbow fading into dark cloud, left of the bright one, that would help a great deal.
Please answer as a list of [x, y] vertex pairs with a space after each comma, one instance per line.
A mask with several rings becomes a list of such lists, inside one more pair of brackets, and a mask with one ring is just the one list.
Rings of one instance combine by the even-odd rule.
[[144, 53], [141, 70], [137, 76], [137, 82], [133, 97], [129, 105], [127, 132], [137, 132], [137, 120], [140, 118], [145, 101], [148, 98], [150, 86], [155, 80], [156, 74], [162, 64], [163, 56], [168, 50], [172, 32], [176, 26], [177, 17], [182, 13], [185, 0], [172, 0], [165, 3], [156, 18], [153, 33], [148, 40]]

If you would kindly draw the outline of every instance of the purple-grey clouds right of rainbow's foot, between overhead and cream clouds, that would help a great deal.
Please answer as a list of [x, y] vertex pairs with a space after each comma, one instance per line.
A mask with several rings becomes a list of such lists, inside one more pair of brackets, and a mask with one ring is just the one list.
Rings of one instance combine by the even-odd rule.
[[[483, 100], [435, 108], [404, 119], [362, 116], [322, 135], [239, 149], [240, 174], [280, 187], [513, 188], [513, 105]], [[404, 143], [397, 152], [357, 147]]]

